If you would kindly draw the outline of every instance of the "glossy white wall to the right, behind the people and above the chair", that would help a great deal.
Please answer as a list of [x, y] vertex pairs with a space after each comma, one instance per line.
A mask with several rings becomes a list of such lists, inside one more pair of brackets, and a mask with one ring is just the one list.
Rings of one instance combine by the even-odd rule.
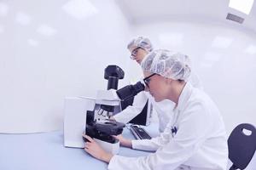
[[[178, 19], [177, 19], [178, 20]], [[228, 133], [241, 122], [256, 124], [256, 35], [224, 23], [162, 21], [136, 26], [154, 48], [188, 54], [204, 89], [224, 116]]]

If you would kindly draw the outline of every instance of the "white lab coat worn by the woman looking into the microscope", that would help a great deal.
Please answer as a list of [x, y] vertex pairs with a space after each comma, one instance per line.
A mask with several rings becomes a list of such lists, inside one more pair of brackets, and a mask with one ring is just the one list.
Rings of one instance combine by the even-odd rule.
[[172, 120], [159, 137], [132, 140], [133, 149], [156, 150], [154, 153], [141, 157], [113, 156], [108, 169], [226, 169], [224, 122], [212, 99], [188, 82], [171, 114]]

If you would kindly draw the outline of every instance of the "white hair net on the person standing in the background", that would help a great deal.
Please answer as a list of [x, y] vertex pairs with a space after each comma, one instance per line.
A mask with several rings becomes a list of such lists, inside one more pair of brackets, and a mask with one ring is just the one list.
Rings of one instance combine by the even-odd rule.
[[135, 37], [128, 43], [127, 48], [132, 52], [135, 48], [143, 48], [150, 52], [153, 50], [152, 43], [147, 37]]

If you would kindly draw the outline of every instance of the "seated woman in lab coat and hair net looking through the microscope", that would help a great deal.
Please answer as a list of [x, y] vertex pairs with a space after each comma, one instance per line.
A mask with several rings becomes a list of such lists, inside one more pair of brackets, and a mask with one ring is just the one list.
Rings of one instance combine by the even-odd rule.
[[224, 122], [212, 99], [188, 80], [191, 67], [187, 55], [155, 50], [143, 59], [142, 68], [149, 93], [156, 102], [170, 99], [175, 108], [164, 133], [154, 139], [130, 140], [117, 137], [122, 145], [137, 150], [153, 150], [148, 156], [113, 156], [94, 139], [84, 150], [108, 162], [108, 169], [192, 169], [225, 170], [228, 146]]

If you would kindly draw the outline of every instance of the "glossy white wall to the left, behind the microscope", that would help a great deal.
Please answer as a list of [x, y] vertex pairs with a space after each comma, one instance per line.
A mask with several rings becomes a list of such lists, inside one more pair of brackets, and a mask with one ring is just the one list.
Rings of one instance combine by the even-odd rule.
[[107, 65], [126, 71], [127, 20], [113, 0], [90, 3], [1, 1], [0, 133], [61, 129], [65, 96], [107, 88]]

